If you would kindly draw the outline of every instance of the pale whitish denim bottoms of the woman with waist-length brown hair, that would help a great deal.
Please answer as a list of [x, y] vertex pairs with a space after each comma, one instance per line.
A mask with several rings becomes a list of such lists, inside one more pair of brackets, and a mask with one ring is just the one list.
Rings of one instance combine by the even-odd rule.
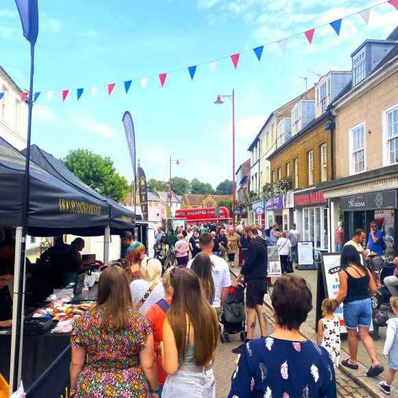
[[207, 372], [176, 371], [168, 375], [163, 386], [163, 398], [215, 398], [213, 369]]

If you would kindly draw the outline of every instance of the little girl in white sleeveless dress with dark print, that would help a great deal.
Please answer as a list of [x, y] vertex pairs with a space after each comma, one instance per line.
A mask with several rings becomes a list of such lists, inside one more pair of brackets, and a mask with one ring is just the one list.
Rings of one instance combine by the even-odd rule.
[[338, 367], [340, 360], [340, 318], [334, 315], [336, 302], [325, 299], [321, 305], [323, 318], [318, 322], [316, 344], [327, 349], [334, 366]]

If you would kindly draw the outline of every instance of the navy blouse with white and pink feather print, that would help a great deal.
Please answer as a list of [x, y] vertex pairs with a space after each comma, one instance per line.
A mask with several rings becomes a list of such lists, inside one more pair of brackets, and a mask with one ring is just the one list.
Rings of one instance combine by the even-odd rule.
[[259, 338], [244, 344], [229, 398], [336, 398], [327, 351], [310, 341]]

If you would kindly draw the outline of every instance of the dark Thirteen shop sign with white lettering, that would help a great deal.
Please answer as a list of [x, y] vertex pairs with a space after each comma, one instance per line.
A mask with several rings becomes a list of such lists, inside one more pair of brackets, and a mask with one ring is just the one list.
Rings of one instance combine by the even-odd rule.
[[396, 209], [397, 191], [372, 192], [357, 196], [343, 196], [340, 198], [341, 211]]

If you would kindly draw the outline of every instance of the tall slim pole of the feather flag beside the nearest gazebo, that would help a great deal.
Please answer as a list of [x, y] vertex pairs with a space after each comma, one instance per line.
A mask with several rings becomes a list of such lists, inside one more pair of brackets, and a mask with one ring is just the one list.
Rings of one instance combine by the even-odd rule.
[[26, 251], [26, 234], [29, 217], [29, 203], [30, 203], [30, 136], [32, 131], [32, 108], [33, 108], [33, 75], [34, 75], [34, 45], [30, 46], [30, 86], [28, 95], [28, 113], [27, 113], [27, 139], [26, 139], [26, 162], [25, 162], [25, 181], [23, 187], [23, 217], [22, 217], [22, 236], [21, 236], [21, 258], [19, 261], [18, 272], [18, 289], [14, 291], [14, 306], [16, 307], [16, 318], [13, 318], [15, 323], [15, 346], [12, 347], [12, 354], [14, 355], [14, 368], [11, 370], [12, 384], [10, 388], [17, 390], [21, 384], [21, 355], [23, 345], [23, 303], [25, 294], [25, 251]]

